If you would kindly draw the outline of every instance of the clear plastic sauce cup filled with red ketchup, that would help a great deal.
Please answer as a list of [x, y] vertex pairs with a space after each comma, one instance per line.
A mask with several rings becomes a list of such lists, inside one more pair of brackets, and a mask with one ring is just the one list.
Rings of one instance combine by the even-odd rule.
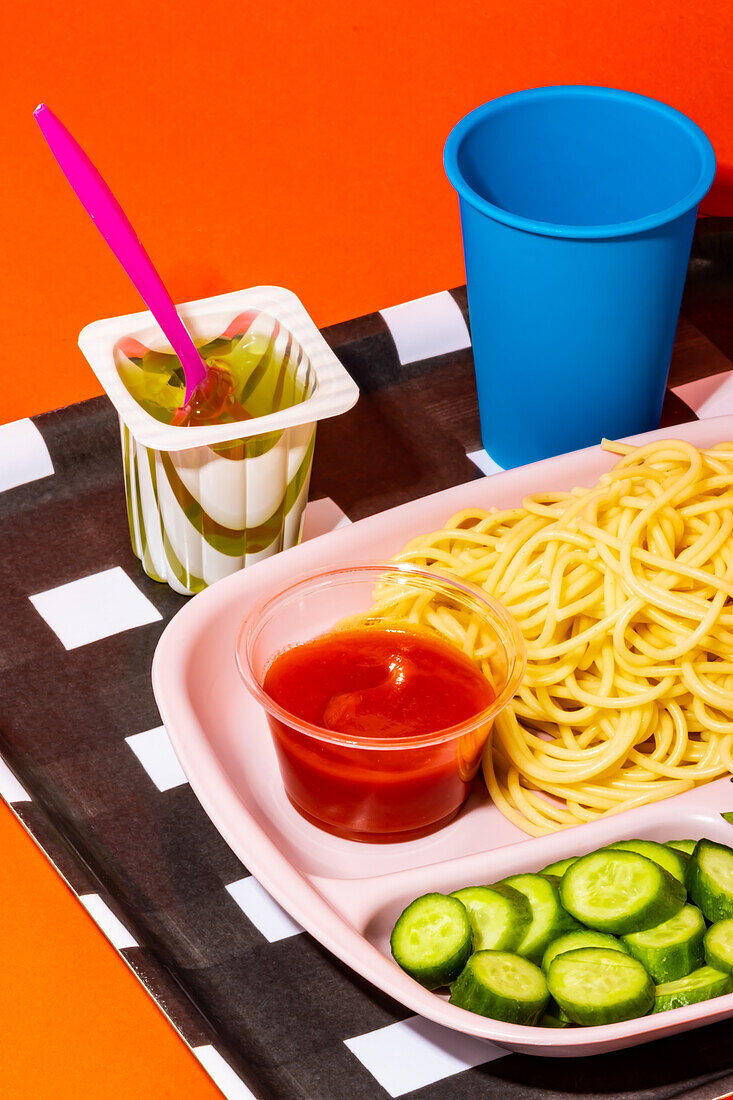
[[[384, 600], [386, 617], [375, 610]], [[430, 629], [430, 616], [466, 629], [475, 660]], [[319, 828], [373, 842], [413, 839], [456, 816], [525, 656], [518, 627], [482, 590], [378, 563], [266, 596], [241, 625], [237, 660], [291, 803]]]

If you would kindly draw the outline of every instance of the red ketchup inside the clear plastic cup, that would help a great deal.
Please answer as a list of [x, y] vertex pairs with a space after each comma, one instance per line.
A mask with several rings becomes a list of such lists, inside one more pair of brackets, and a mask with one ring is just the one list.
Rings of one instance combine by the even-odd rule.
[[[321, 827], [404, 839], [450, 820], [468, 796], [490, 730], [470, 719], [494, 692], [456, 646], [416, 630], [335, 630], [278, 653], [263, 688], [322, 730], [270, 714], [288, 796]], [[420, 744], [467, 722], [458, 734]]]

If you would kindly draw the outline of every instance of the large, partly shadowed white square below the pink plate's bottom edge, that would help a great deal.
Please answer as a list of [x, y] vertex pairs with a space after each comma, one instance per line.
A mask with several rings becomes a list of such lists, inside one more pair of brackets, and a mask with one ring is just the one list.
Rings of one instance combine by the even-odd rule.
[[391, 1097], [404, 1096], [508, 1053], [422, 1016], [411, 1016], [344, 1043]]

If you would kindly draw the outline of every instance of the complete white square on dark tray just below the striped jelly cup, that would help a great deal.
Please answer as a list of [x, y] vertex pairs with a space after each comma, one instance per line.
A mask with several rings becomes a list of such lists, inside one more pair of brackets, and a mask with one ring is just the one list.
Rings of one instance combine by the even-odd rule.
[[155, 623], [163, 616], [119, 565], [30, 597], [65, 649]]

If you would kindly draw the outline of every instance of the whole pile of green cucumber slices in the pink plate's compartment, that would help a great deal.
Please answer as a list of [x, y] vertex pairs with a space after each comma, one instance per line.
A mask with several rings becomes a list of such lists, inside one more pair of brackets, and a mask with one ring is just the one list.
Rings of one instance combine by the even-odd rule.
[[620, 840], [427, 893], [390, 943], [426, 989], [449, 987], [451, 1004], [512, 1024], [593, 1026], [696, 1004], [733, 992], [733, 848]]

